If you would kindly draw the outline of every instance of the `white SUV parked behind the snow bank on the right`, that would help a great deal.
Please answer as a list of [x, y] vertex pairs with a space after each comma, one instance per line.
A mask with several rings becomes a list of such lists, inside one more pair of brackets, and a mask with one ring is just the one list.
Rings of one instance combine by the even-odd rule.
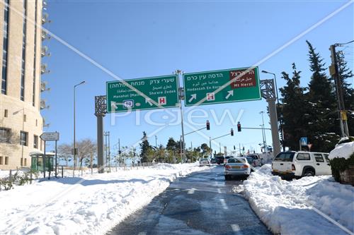
[[272, 174], [282, 177], [331, 175], [326, 152], [280, 152], [272, 163]]

